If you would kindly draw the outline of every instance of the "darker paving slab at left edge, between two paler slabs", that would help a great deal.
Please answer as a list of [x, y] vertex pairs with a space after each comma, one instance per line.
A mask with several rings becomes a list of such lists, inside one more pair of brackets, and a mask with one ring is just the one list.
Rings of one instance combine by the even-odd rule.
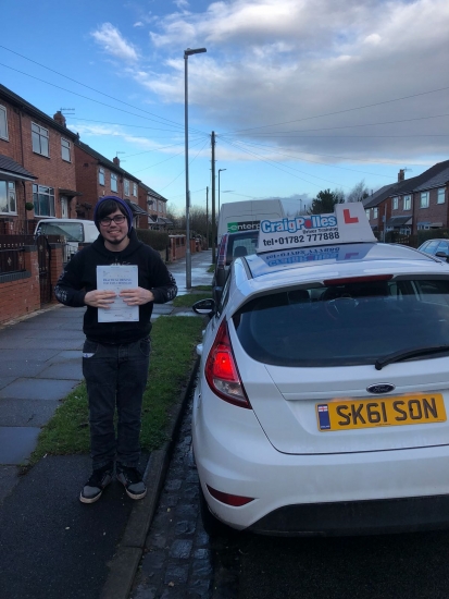
[[59, 400], [0, 400], [0, 426], [42, 427], [60, 405]]

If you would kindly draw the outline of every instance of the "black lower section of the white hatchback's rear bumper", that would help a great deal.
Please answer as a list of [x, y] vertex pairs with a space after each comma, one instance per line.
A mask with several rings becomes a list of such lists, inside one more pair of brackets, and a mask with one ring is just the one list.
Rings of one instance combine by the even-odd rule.
[[449, 528], [449, 496], [286, 505], [248, 530], [275, 536], [345, 536]]

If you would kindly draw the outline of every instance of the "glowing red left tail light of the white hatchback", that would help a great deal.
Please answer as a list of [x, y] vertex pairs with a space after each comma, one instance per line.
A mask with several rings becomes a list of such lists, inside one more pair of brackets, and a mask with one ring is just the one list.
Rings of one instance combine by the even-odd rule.
[[204, 368], [212, 391], [225, 402], [251, 409], [230, 345], [226, 320], [220, 325]]

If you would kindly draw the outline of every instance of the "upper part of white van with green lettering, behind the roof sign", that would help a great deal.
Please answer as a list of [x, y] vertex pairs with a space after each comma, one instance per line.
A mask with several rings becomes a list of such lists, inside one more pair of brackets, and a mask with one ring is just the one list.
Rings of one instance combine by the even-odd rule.
[[259, 230], [264, 219], [286, 217], [280, 199], [250, 199], [222, 204], [219, 215], [217, 244], [225, 233]]

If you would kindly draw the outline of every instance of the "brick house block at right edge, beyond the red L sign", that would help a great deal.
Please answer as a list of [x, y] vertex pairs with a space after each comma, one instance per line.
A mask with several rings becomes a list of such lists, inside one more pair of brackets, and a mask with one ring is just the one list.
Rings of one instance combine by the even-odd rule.
[[438, 162], [422, 174], [385, 185], [363, 200], [366, 216], [375, 233], [398, 231], [415, 234], [423, 229], [449, 228], [449, 160]]

